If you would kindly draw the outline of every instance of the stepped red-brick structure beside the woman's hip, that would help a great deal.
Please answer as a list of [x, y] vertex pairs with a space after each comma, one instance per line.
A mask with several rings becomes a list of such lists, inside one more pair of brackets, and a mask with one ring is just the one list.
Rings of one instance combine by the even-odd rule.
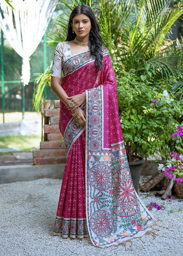
[[45, 101], [44, 111], [41, 111], [44, 121], [44, 139], [40, 143], [40, 149], [32, 152], [33, 164], [64, 164], [66, 162], [64, 139], [58, 127], [60, 101], [54, 101], [52, 110], [50, 105], [51, 101]]

